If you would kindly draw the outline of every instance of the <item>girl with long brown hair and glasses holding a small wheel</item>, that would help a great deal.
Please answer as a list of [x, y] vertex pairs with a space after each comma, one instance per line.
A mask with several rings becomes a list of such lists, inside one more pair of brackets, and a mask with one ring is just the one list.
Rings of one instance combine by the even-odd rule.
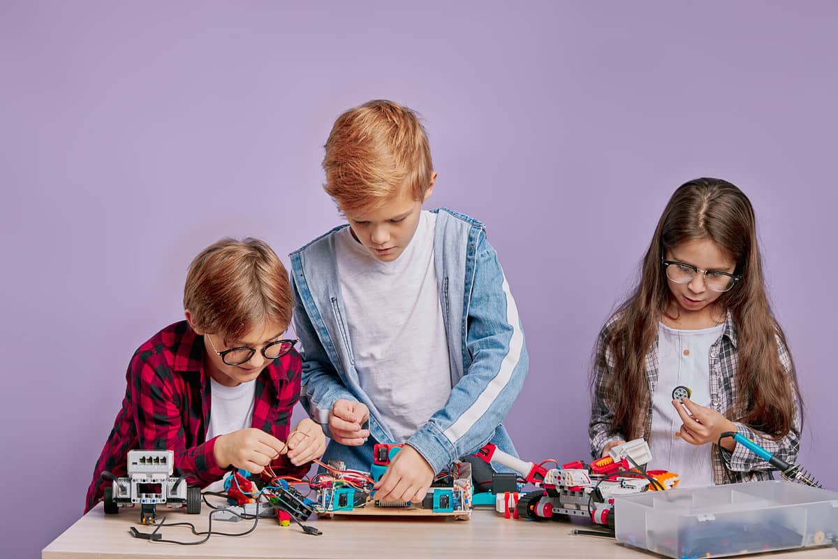
[[[689, 391], [674, 394], [680, 386]], [[740, 432], [794, 463], [803, 419], [794, 361], [765, 292], [753, 206], [734, 184], [696, 179], [675, 190], [639, 285], [599, 335], [592, 396], [596, 458], [644, 437], [649, 469], [680, 474], [681, 486], [771, 479], [772, 467], [731, 437], [719, 448], [722, 432]]]

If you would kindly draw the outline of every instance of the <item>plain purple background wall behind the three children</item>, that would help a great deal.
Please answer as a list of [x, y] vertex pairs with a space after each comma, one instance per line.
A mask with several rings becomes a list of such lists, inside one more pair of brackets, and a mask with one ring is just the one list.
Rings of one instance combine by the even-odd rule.
[[835, 28], [831, 2], [3, 0], [3, 556], [80, 515], [127, 360], [181, 318], [197, 251], [260, 236], [287, 261], [339, 222], [323, 142], [381, 97], [427, 120], [428, 206], [489, 224], [530, 349], [523, 456], [587, 457], [597, 331], [671, 192], [709, 175], [756, 207], [800, 459], [838, 489]]

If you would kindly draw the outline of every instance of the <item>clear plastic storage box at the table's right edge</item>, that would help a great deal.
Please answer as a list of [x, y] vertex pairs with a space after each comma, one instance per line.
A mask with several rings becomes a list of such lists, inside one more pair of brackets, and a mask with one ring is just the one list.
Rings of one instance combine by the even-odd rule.
[[649, 491], [614, 500], [617, 541], [697, 559], [838, 543], [838, 493], [788, 481]]

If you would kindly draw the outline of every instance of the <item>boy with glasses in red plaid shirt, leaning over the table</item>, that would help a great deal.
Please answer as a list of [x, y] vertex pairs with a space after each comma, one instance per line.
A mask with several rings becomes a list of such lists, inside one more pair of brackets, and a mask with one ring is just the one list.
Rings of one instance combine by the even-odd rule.
[[186, 320], [134, 353], [122, 409], [96, 462], [85, 512], [101, 500], [104, 471], [126, 474], [135, 448], [174, 451], [174, 467], [204, 487], [230, 468], [268, 464], [300, 477], [323, 455], [325, 435], [306, 418], [289, 435], [300, 394], [292, 292], [277, 255], [262, 241], [225, 239], [192, 261]]

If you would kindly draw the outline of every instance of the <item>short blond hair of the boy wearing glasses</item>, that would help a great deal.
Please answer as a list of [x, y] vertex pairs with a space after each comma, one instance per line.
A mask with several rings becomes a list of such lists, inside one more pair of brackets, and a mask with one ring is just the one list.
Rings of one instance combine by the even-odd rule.
[[189, 265], [184, 308], [195, 329], [237, 341], [269, 323], [287, 329], [293, 296], [285, 267], [270, 246], [250, 237], [225, 238]]

